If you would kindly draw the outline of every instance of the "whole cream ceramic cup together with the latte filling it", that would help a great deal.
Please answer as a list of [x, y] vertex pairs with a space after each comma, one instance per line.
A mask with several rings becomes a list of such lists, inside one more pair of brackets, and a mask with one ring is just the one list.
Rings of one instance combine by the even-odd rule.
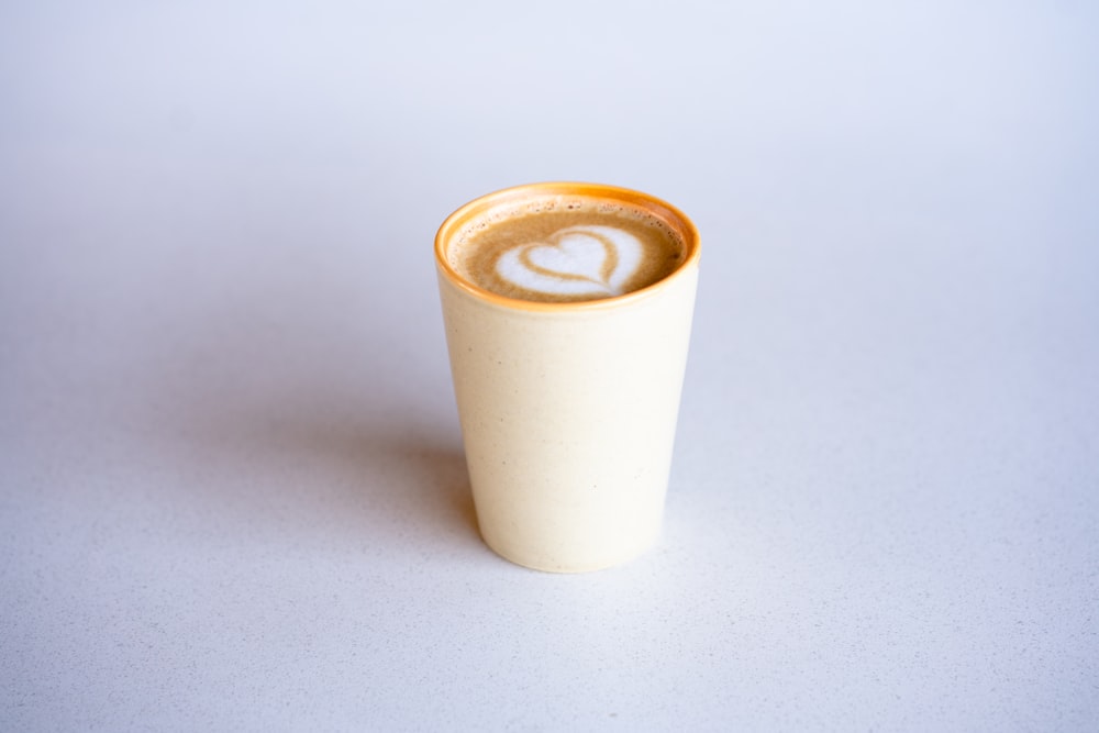
[[656, 542], [699, 256], [671, 204], [597, 184], [497, 191], [440, 226], [469, 486], [503, 557], [579, 573]]

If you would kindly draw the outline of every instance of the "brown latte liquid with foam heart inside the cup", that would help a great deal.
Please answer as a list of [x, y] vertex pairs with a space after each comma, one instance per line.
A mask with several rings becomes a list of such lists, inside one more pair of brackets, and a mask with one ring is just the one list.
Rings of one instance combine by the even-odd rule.
[[466, 222], [447, 259], [462, 277], [519, 300], [570, 302], [648, 287], [686, 259], [656, 213], [623, 201], [546, 193]]

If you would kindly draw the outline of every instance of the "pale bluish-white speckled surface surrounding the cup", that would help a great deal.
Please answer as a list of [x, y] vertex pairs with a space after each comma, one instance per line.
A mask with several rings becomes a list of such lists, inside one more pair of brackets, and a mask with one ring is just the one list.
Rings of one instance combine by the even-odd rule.
[[[0, 7], [0, 729], [1099, 730], [1094, 3]], [[431, 242], [698, 223], [662, 544], [480, 542]]]

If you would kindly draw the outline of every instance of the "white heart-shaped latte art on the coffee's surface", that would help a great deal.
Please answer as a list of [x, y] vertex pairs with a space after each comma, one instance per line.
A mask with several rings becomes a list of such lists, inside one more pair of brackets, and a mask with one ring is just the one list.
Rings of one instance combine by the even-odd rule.
[[550, 296], [621, 296], [642, 259], [641, 242], [613, 226], [569, 226], [515, 245], [496, 260], [507, 282]]

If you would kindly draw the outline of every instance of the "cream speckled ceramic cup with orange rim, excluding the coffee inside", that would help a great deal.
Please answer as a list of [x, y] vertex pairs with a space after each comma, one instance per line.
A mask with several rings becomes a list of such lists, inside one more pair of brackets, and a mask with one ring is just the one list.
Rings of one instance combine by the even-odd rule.
[[[447, 248], [490, 207], [545, 193], [656, 214], [687, 256], [656, 284], [604, 300], [504, 298], [459, 276]], [[477, 521], [503, 557], [556, 573], [632, 559], [660, 533], [687, 362], [699, 238], [674, 207], [592, 184], [536, 184], [462, 207], [435, 236], [454, 391]]]

